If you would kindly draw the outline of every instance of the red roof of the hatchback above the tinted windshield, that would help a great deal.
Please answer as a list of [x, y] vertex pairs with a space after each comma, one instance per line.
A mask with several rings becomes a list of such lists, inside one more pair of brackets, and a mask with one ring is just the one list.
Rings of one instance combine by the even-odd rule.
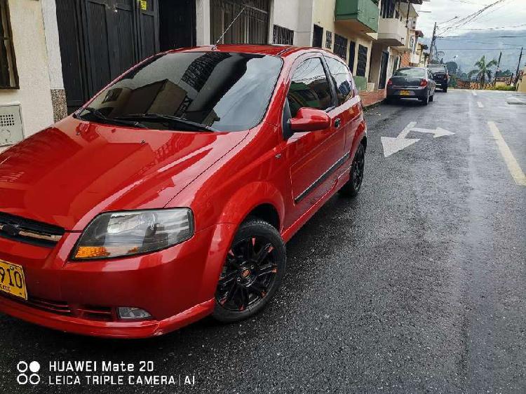
[[297, 53], [300, 50], [316, 50], [319, 52], [326, 52], [328, 55], [332, 53], [323, 50], [322, 48], [298, 47], [290, 45], [260, 45], [260, 44], [221, 44], [214, 48], [214, 46], [195, 46], [189, 48], [181, 48], [177, 52], [229, 52], [229, 53], [255, 53], [258, 55], [273, 55], [278, 57], [287, 57], [292, 53]]

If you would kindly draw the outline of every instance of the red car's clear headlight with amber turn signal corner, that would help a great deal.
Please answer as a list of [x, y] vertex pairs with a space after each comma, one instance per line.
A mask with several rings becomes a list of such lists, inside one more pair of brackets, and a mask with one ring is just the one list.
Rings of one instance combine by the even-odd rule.
[[107, 212], [88, 224], [73, 258], [109, 259], [155, 252], [194, 235], [189, 208]]

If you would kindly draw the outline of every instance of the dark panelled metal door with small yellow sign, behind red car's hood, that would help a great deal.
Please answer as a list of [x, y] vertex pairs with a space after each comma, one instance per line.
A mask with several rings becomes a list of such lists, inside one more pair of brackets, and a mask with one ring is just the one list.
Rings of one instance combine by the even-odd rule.
[[158, 0], [56, 1], [69, 113], [159, 52]]

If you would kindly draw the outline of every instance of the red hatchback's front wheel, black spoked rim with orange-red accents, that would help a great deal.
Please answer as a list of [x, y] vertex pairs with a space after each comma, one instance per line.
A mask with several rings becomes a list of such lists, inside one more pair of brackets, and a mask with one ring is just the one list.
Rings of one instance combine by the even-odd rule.
[[241, 224], [217, 283], [213, 318], [236, 322], [261, 311], [281, 285], [286, 261], [274, 226], [261, 219]]

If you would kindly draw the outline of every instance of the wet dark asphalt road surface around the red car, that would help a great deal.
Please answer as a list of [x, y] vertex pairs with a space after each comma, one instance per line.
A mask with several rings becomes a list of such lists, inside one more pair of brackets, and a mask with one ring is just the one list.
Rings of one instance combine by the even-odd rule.
[[[109, 341], [0, 315], [0, 390], [20, 391], [20, 360], [152, 360], [155, 374], [194, 375], [189, 389], [207, 392], [524, 393], [526, 186], [487, 122], [526, 170], [526, 95], [476, 94], [367, 112], [363, 192], [332, 198], [288, 243], [285, 285], [257, 318]], [[455, 134], [410, 130], [420, 140], [384, 157], [381, 137], [411, 121]], [[93, 390], [45, 379], [34, 389]]]

